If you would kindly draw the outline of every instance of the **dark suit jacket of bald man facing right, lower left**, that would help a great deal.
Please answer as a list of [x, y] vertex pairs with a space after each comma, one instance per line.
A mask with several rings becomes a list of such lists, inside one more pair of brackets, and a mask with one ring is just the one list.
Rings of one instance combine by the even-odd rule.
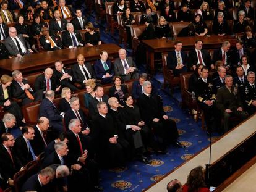
[[[30, 144], [33, 148], [33, 151], [35, 152], [35, 155], [39, 156], [39, 154], [45, 150], [46, 146], [40, 134], [40, 131], [36, 126], [34, 127], [34, 130], [35, 130], [35, 137], [33, 140], [30, 141]], [[45, 141], [46, 141], [46, 138], [45, 138]]]

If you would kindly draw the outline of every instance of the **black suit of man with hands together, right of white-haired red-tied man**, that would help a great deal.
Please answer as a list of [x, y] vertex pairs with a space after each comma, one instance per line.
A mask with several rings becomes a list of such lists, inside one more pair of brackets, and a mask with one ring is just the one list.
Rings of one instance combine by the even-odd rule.
[[[68, 73], [72, 77], [72, 72], [70, 69], [63, 68], [63, 70], [64, 70], [64, 73]], [[72, 77], [72, 80], [70, 80], [69, 78], [65, 78], [64, 80], [61, 80], [61, 77], [63, 74], [61, 72], [58, 72], [58, 70], [56, 69], [53, 70], [53, 75], [54, 77], [56, 77], [57, 80], [59, 80], [58, 85], [61, 85], [61, 88], [68, 87], [70, 88], [71, 91], [78, 90], [78, 88], [76, 88], [76, 86], [72, 84], [74, 81], [73, 77]]]

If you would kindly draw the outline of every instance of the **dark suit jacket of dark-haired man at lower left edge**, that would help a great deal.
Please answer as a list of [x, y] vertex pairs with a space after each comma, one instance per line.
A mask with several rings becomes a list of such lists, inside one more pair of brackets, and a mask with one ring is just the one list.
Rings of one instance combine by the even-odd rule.
[[22, 167], [22, 163], [17, 158], [14, 150], [10, 148], [10, 151], [12, 154], [12, 159], [14, 160], [14, 164], [12, 163], [12, 159], [4, 145], [0, 145], [0, 167], [1, 176], [4, 179], [4, 182], [7, 182], [8, 178], [13, 178], [14, 174], [19, 172], [20, 167]]

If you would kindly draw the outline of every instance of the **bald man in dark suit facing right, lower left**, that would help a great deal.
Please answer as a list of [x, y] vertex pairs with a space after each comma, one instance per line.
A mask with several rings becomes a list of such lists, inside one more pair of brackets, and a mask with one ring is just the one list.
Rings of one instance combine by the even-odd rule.
[[49, 120], [46, 117], [40, 117], [34, 127], [35, 138], [30, 142], [36, 156], [39, 156], [47, 146], [47, 140], [44, 134], [46, 134], [48, 128]]

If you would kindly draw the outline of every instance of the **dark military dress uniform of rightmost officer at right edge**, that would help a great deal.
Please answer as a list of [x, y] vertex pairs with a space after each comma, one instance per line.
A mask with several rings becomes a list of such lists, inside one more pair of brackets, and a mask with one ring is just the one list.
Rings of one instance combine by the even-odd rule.
[[249, 115], [254, 114], [256, 107], [252, 105], [252, 101], [256, 100], [255, 84], [251, 85], [249, 82], [246, 82], [242, 96], [244, 97], [242, 101], [244, 102], [245, 111], [248, 112]]

